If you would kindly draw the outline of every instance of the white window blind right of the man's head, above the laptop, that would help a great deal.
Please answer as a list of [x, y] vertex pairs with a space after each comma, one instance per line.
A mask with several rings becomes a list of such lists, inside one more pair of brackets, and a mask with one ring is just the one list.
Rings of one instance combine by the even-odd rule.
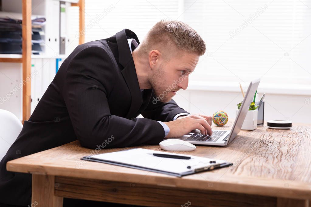
[[311, 84], [309, 1], [185, 0], [207, 52], [195, 80]]

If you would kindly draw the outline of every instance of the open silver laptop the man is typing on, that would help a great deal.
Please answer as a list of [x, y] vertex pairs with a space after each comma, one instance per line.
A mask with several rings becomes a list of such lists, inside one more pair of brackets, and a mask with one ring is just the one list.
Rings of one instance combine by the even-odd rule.
[[241, 130], [245, 116], [247, 114], [249, 105], [253, 101], [253, 97], [258, 88], [260, 79], [252, 81], [247, 89], [239, 113], [234, 121], [231, 130], [212, 130], [212, 136], [201, 133], [188, 133], [182, 137], [178, 137], [184, 141], [188, 141], [197, 145], [214, 145], [214, 146], [226, 146], [228, 145]]

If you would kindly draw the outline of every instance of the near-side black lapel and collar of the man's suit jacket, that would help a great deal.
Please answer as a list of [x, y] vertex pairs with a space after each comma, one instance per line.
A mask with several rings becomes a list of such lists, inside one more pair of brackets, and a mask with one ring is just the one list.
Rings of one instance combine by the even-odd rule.
[[[116, 41], [118, 44], [119, 63], [124, 67], [121, 71], [123, 78], [128, 85], [131, 93], [131, 106], [128, 110], [126, 118], [131, 119], [137, 114], [137, 111], [142, 106], [142, 94], [140, 92], [135, 64], [132, 53], [128, 47], [128, 37], [134, 38], [139, 44], [138, 38], [131, 30], [123, 29], [116, 34]], [[136, 116], [135, 116], [136, 117]]]

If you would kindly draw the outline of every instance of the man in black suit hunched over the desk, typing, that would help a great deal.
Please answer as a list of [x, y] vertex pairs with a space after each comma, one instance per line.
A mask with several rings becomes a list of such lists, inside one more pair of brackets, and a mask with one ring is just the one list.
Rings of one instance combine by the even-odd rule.
[[160, 21], [138, 44], [124, 29], [68, 56], [0, 163], [0, 203], [31, 203], [31, 174], [6, 171], [18, 157], [77, 139], [95, 149], [104, 142], [107, 148], [158, 145], [194, 129], [211, 135], [211, 117], [190, 115], [171, 100], [188, 87], [205, 53], [202, 38], [183, 22]]

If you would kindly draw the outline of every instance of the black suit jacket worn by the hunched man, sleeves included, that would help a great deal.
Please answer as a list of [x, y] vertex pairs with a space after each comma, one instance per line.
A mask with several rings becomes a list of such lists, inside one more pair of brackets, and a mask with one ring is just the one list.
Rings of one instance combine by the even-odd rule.
[[[77, 139], [92, 149], [158, 145], [165, 133], [156, 120], [188, 113], [173, 100], [153, 104], [152, 89], [142, 96], [129, 38], [139, 43], [135, 33], [124, 29], [79, 45], [63, 62], [0, 163], [0, 203], [31, 203], [31, 174], [6, 171], [9, 160]], [[139, 114], [145, 118], [136, 118]]]

